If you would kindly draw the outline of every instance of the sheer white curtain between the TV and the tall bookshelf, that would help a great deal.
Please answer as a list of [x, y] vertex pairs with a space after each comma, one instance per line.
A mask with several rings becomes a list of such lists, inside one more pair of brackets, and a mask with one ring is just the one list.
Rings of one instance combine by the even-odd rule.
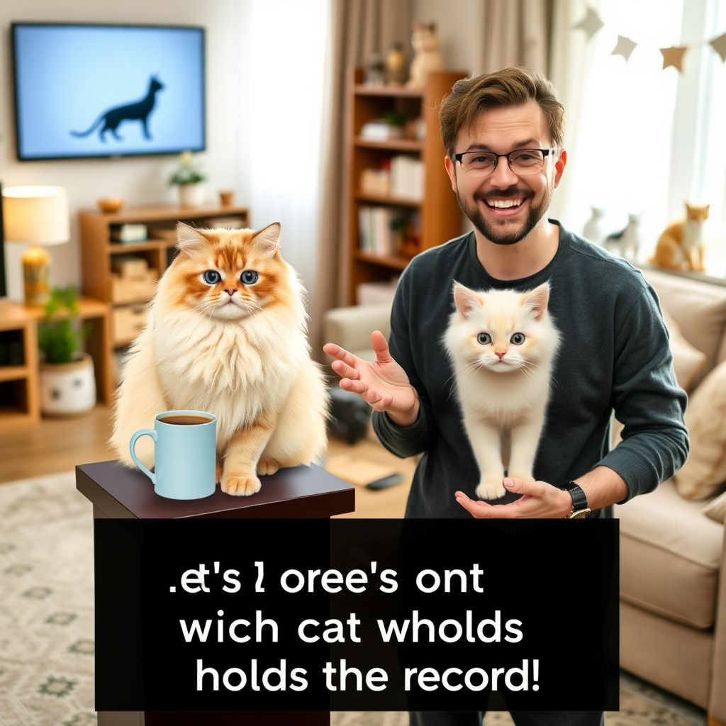
[[[330, 0], [240, 0], [240, 89], [230, 98], [240, 129], [240, 187], [252, 226], [282, 224], [282, 256], [309, 291], [315, 254], [322, 97]], [[218, 107], [222, 107], [221, 105]]]

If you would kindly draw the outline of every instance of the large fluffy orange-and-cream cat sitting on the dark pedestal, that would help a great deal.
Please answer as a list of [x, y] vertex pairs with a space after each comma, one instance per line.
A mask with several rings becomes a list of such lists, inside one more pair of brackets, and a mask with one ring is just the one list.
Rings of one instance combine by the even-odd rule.
[[[179, 253], [161, 277], [132, 344], [110, 443], [134, 467], [129, 439], [156, 414], [217, 417], [216, 481], [258, 492], [259, 475], [309, 465], [327, 444], [328, 399], [310, 357], [303, 287], [280, 256], [280, 224], [252, 229], [176, 227]], [[144, 436], [136, 456], [153, 465]]]

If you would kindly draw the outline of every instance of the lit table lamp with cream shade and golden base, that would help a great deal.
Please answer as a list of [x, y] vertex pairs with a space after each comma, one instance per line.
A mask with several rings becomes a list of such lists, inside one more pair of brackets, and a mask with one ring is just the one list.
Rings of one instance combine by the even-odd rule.
[[65, 187], [7, 187], [2, 205], [5, 240], [30, 243], [23, 253], [25, 305], [42, 306], [50, 296], [50, 253], [43, 247], [70, 239], [68, 194]]

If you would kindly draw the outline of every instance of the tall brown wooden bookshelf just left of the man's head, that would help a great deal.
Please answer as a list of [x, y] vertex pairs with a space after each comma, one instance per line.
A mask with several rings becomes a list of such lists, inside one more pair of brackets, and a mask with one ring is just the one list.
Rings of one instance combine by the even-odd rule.
[[[348, 71], [346, 107], [346, 150], [348, 179], [346, 198], [348, 210], [348, 303], [356, 303], [356, 287], [363, 282], [387, 282], [405, 269], [412, 254], [441, 245], [461, 232], [461, 212], [451, 182], [444, 170], [444, 147], [439, 135], [437, 107], [441, 99], [465, 73], [440, 71], [430, 73], [425, 89], [404, 86], [364, 86], [363, 71]], [[423, 139], [364, 139], [365, 123], [396, 112], [407, 121], [423, 120]], [[424, 185], [420, 199], [394, 197], [360, 188], [364, 169], [380, 168], [395, 155], [410, 155], [423, 163]], [[359, 213], [363, 207], [400, 208], [404, 216], [417, 216], [417, 245], [407, 245], [389, 253], [362, 250]]]

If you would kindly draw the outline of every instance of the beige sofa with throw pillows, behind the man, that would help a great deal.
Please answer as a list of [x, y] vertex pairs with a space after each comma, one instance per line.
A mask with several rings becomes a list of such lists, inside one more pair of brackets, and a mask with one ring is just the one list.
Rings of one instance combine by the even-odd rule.
[[[666, 311], [674, 368], [690, 393], [692, 442], [672, 480], [616, 507], [621, 666], [726, 726], [726, 284], [643, 274]], [[329, 311], [325, 339], [372, 359], [370, 333], [388, 335], [389, 312], [385, 304]]]

